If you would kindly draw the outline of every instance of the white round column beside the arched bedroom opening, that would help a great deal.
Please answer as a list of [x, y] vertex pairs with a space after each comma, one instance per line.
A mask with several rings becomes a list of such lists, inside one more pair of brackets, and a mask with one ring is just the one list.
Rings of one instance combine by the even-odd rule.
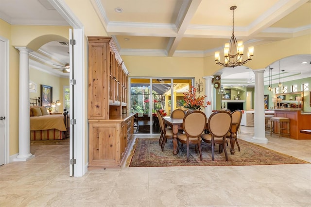
[[26, 47], [19, 50], [19, 96], [18, 96], [18, 155], [14, 161], [27, 161], [35, 157], [30, 153], [30, 118], [29, 118], [29, 52]]

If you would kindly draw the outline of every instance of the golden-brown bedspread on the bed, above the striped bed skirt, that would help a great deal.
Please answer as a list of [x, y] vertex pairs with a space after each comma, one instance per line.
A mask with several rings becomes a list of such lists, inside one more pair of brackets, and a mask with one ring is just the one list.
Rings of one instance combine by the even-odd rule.
[[44, 115], [30, 117], [30, 131], [57, 129], [66, 131], [64, 115]]

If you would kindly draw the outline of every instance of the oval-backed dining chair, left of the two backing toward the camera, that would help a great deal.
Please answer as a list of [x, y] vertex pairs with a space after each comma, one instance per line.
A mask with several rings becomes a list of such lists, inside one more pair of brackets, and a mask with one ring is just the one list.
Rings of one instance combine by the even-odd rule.
[[[187, 144], [187, 161], [189, 161], [189, 144], [195, 144], [199, 148], [200, 159], [202, 160], [201, 135], [206, 127], [206, 115], [202, 111], [190, 111], [183, 119], [185, 134], [178, 134], [177, 140]], [[197, 149], [195, 147], [195, 152]]]

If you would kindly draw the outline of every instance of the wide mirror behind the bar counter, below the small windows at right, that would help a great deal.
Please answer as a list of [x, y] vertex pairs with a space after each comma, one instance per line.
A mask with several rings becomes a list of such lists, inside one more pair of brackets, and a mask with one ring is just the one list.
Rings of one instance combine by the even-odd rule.
[[[287, 103], [291, 108], [301, 108], [303, 109], [303, 91], [292, 92], [292, 93], [278, 93], [276, 94], [277, 99], [281, 99], [278, 106]], [[287, 106], [286, 106], [287, 107]]]

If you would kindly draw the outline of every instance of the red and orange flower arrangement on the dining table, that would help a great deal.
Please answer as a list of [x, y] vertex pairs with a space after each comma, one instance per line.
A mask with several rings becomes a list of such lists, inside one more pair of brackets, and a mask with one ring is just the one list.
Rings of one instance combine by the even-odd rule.
[[196, 97], [196, 90], [195, 87], [191, 86], [190, 90], [184, 93], [184, 101], [186, 102], [185, 108], [201, 110], [211, 104], [210, 102], [207, 102], [207, 105], [204, 105], [204, 99], [207, 96]]

